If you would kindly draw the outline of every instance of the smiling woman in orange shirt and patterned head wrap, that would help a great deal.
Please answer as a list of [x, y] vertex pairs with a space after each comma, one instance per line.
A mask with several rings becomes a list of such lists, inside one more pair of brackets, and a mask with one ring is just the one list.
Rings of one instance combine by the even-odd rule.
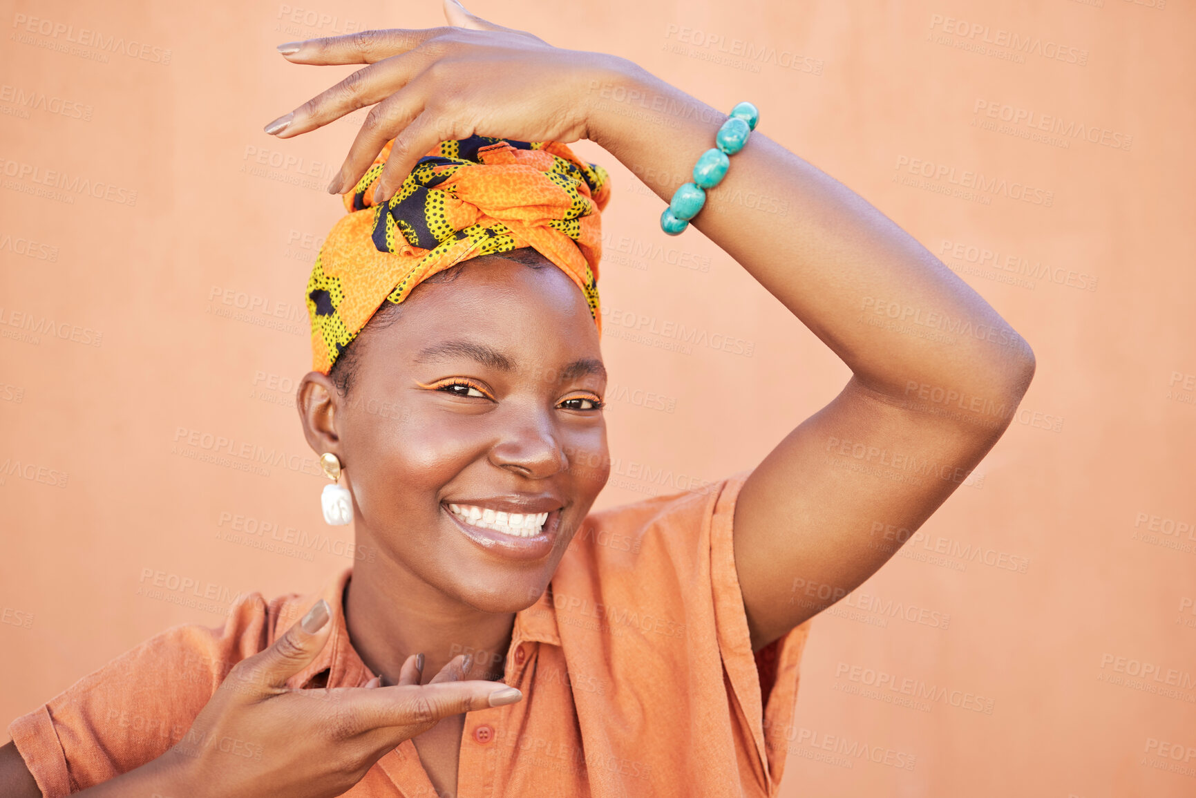
[[[609, 185], [563, 142], [598, 142], [667, 200], [727, 117], [623, 59], [445, 8], [447, 28], [280, 47], [370, 66], [267, 126], [374, 106], [329, 187], [354, 212], [307, 286], [298, 398], [336, 485], [325, 517], [352, 512], [377, 556], [319, 601], [254, 595], [224, 629], [167, 631], [18, 719], [5, 794], [775, 794], [805, 622], [1008, 425], [1025, 341], [755, 132], [684, 215], [853, 376], [750, 474], [590, 513], [609, 474]], [[520, 165], [541, 183], [502, 171]], [[738, 202], [749, 189], [792, 221]]]

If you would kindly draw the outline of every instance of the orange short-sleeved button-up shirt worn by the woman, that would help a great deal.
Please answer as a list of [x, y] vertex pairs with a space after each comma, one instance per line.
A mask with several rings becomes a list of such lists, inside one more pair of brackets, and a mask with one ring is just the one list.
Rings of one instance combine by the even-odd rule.
[[[745, 477], [586, 518], [549, 591], [515, 614], [504, 681], [524, 699], [465, 715], [458, 798], [776, 793], [808, 622], [752, 653], [731, 538]], [[350, 577], [347, 568], [316, 595], [269, 603], [251, 593], [222, 628], [167, 629], [14, 720], [8, 733], [45, 798], [160, 756], [233, 664], [319, 597], [336, 629], [289, 686], [324, 671], [328, 687], [365, 684], [374, 674], [353, 648], [341, 601]], [[344, 794], [437, 792], [408, 739]]]

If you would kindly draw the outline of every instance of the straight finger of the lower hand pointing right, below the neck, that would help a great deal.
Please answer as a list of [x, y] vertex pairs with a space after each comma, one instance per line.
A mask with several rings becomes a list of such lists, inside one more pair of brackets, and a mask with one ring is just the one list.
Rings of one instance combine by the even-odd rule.
[[495, 682], [438, 682], [379, 687], [349, 698], [356, 733], [390, 726], [425, 726], [441, 718], [514, 703], [523, 693]]

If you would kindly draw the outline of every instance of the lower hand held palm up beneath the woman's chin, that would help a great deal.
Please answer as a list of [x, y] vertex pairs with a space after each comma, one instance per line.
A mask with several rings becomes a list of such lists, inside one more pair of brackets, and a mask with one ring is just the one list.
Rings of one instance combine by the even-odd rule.
[[187, 736], [158, 760], [181, 793], [340, 796], [383, 755], [441, 718], [523, 698], [501, 683], [459, 681], [464, 657], [425, 686], [422, 657], [411, 656], [393, 687], [380, 687], [376, 677], [360, 688], [288, 689], [286, 680], [328, 642], [328, 619], [321, 601], [274, 645], [232, 668]]

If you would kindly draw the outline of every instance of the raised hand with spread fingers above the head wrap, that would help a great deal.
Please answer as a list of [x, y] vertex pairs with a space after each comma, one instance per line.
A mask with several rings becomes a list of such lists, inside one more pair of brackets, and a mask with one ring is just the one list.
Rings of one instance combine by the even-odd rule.
[[456, 0], [444, 4], [451, 26], [372, 30], [279, 48], [292, 63], [370, 65], [266, 126], [287, 139], [373, 105], [330, 193], [354, 185], [391, 139], [379, 200], [389, 199], [444, 140], [484, 135], [569, 144], [587, 138], [592, 81], [620, 59], [555, 48], [475, 17]]

